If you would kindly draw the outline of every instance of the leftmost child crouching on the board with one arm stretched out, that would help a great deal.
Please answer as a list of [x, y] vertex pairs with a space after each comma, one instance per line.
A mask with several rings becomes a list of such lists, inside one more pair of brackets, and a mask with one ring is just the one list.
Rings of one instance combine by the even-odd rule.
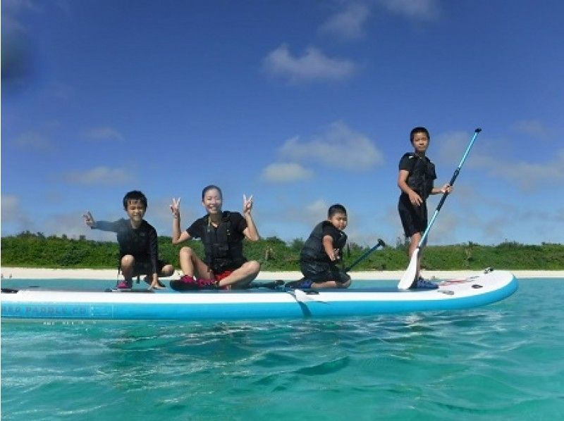
[[122, 218], [115, 222], [96, 222], [89, 211], [83, 215], [90, 228], [117, 233], [119, 267], [124, 279], [118, 281], [116, 288], [133, 287], [133, 277], [139, 275], [147, 275], [145, 282], [150, 284], [149, 289], [164, 288], [159, 282], [159, 276], [171, 276], [174, 268], [159, 260], [157, 231], [143, 219], [147, 211], [145, 194], [137, 190], [128, 192], [123, 198], [123, 208], [128, 214], [128, 220]]

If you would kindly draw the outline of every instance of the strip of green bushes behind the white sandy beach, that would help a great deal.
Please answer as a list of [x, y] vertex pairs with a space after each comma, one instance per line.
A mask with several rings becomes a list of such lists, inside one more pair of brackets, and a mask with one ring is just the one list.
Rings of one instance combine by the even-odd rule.
[[[245, 256], [259, 260], [262, 270], [300, 270], [298, 260], [303, 241], [286, 243], [276, 237], [255, 243], [245, 241]], [[200, 256], [200, 241], [188, 241]], [[379, 249], [359, 263], [355, 270], [404, 270], [408, 263], [406, 244]], [[170, 237], [159, 237], [160, 258], [178, 268], [178, 250]], [[367, 247], [350, 244], [345, 253], [345, 265], [353, 263]], [[69, 239], [45, 237], [42, 233], [23, 232], [14, 237], [1, 238], [1, 264], [21, 268], [117, 268], [118, 245], [111, 241], [92, 241], [84, 237]], [[563, 270], [564, 245], [543, 243], [525, 245], [504, 242], [497, 246], [455, 244], [428, 246], [423, 256], [423, 267], [428, 270], [480, 270], [491, 266], [498, 269]]]

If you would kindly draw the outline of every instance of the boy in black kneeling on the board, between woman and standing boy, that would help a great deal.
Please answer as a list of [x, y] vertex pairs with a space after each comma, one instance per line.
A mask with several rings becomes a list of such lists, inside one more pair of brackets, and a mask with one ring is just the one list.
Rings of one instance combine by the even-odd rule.
[[300, 269], [304, 279], [289, 282], [292, 288], [347, 288], [350, 276], [338, 267], [347, 243], [347, 210], [343, 205], [333, 205], [327, 212], [327, 219], [319, 222], [300, 253]]

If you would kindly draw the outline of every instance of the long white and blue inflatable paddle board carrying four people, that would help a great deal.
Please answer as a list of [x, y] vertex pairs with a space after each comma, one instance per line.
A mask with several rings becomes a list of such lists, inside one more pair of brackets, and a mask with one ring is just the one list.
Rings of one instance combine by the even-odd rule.
[[2, 289], [1, 317], [67, 320], [245, 320], [341, 317], [460, 310], [503, 300], [517, 291], [517, 279], [504, 270], [486, 270], [439, 282], [438, 289], [401, 291], [396, 287], [273, 290], [171, 289], [80, 291]]

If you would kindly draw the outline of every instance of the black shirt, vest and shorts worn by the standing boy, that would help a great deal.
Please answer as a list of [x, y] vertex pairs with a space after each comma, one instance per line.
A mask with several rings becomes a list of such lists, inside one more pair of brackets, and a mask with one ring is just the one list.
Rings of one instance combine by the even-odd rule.
[[413, 206], [408, 194], [403, 191], [400, 194], [398, 211], [405, 236], [411, 237], [427, 228], [427, 197], [431, 194], [436, 180], [435, 165], [427, 156], [421, 157], [410, 152], [401, 157], [399, 168], [409, 172], [405, 182], [423, 200], [420, 206]]

